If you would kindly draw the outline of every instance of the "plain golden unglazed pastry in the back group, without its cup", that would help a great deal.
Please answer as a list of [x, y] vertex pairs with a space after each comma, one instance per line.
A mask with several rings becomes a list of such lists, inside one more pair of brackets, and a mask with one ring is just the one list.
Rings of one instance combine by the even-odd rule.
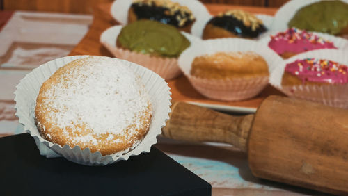
[[222, 80], [269, 76], [266, 61], [253, 51], [198, 56], [193, 60], [190, 73], [198, 78]]

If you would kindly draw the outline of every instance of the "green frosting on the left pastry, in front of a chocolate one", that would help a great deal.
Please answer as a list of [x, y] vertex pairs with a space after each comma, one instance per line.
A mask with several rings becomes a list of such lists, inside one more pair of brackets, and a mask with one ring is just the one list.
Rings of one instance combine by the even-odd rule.
[[180, 56], [190, 45], [177, 28], [151, 20], [139, 20], [123, 27], [118, 42], [131, 51], [166, 57]]

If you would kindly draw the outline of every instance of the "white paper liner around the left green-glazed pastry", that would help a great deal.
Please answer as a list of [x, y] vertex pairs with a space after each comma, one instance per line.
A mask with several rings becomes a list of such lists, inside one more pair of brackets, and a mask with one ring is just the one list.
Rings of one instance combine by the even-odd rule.
[[[102, 42], [104, 47], [106, 47], [113, 56], [147, 67], [153, 72], [159, 74], [159, 76], [165, 80], [175, 79], [177, 76], [180, 76], [181, 71], [177, 65], [177, 58], [150, 56], [148, 54], [140, 54], [116, 47], [116, 40], [122, 27], [122, 25], [112, 26], [100, 35], [100, 42]], [[191, 42], [191, 44], [193, 44], [193, 42], [200, 42], [199, 38], [196, 38], [189, 33], [181, 33]]]

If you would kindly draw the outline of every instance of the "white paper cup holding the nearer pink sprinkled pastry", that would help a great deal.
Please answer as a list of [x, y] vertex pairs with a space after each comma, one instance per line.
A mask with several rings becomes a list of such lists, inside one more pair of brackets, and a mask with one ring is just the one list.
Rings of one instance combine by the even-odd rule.
[[343, 65], [348, 65], [347, 51], [339, 51], [335, 49], [318, 49], [315, 51], [308, 51], [303, 54], [292, 56], [284, 60], [276, 70], [271, 73], [269, 83], [281, 92], [284, 92], [289, 97], [296, 97], [315, 101], [328, 106], [338, 108], [348, 108], [348, 85], [293, 85], [282, 86], [285, 65], [292, 63], [295, 60], [303, 58], [319, 58], [326, 60], [333, 60]]

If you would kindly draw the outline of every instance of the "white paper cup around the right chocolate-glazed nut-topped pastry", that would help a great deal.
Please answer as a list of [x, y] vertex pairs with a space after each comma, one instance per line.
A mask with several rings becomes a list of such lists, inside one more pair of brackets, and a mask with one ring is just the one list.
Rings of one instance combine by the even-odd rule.
[[[261, 19], [264, 26], [266, 26], [267, 31], [269, 31], [269, 29], [271, 29], [271, 25], [273, 23], [274, 17], [270, 16], [270, 15], [262, 15], [262, 14], [256, 14], [256, 17], [258, 17], [258, 19]], [[212, 19], [213, 16], [211, 15], [207, 15], [205, 16], [205, 18], [200, 19], [198, 22], [195, 22], [195, 24], [193, 24], [192, 29], [191, 29], [191, 33], [192, 35], [195, 35], [198, 38], [202, 38], [203, 36], [203, 30], [205, 28], [205, 26], [207, 25], [207, 23], [209, 22], [210, 19]], [[267, 32], [265, 32], [267, 33]], [[262, 33], [259, 38], [261, 38], [261, 36], [264, 35], [264, 33]]]

